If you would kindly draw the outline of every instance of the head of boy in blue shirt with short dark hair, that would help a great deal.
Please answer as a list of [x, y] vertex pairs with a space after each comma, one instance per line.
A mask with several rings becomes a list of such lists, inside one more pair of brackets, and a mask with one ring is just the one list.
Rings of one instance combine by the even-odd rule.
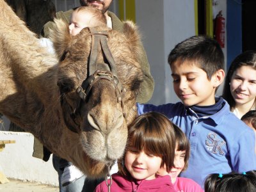
[[216, 40], [192, 36], [174, 47], [168, 63], [174, 91], [185, 106], [215, 104], [215, 92], [225, 76], [223, 52]]

